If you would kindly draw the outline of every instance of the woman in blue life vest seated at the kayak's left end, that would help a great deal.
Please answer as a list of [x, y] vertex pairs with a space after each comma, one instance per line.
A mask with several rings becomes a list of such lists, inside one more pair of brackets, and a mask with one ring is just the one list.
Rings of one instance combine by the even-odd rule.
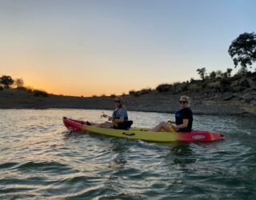
[[103, 114], [103, 117], [106, 117], [111, 122], [104, 122], [101, 124], [98, 123], [90, 123], [88, 125], [97, 126], [100, 128], [114, 128], [114, 129], [122, 129], [127, 130], [132, 125], [132, 121], [128, 121], [128, 113], [123, 105], [122, 97], [114, 98], [114, 106], [115, 110], [113, 111], [112, 117], [108, 117], [107, 115]]

